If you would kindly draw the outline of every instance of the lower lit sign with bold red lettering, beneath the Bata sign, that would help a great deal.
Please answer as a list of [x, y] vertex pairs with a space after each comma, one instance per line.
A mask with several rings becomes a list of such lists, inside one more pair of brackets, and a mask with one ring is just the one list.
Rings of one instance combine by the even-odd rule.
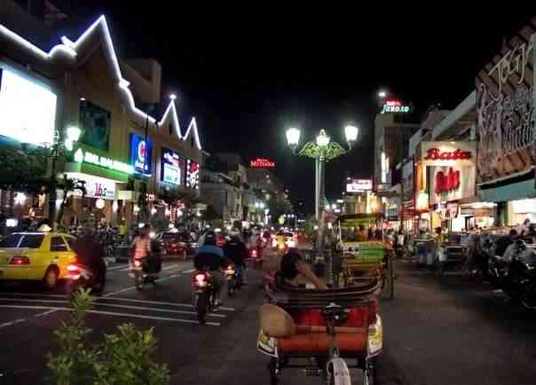
[[431, 166], [430, 204], [475, 195], [475, 166]]

